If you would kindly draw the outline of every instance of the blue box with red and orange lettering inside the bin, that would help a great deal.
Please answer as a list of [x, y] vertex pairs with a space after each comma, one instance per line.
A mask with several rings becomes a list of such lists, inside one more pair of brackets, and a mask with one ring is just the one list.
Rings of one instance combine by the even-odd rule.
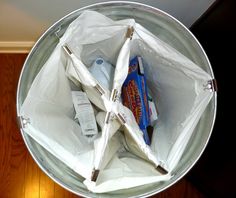
[[143, 60], [135, 56], [129, 64], [129, 72], [122, 86], [122, 102], [128, 107], [143, 132], [144, 141], [151, 144], [147, 132], [150, 126], [150, 109], [148, 104], [148, 91], [146, 77], [144, 75]]

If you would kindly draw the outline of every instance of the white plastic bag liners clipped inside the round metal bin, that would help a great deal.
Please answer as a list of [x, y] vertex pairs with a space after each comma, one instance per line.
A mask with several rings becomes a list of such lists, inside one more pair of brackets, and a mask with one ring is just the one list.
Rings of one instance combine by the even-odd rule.
[[[126, 38], [129, 27], [134, 28], [131, 41]], [[62, 50], [65, 43], [74, 52], [79, 67], [65, 56]], [[127, 76], [128, 61], [135, 55], [141, 55], [148, 65], [144, 68], [145, 75], [159, 112], [150, 147], [145, 144], [130, 110], [119, 102], [110, 101], [111, 90], [104, 89], [105, 94], [101, 97], [93, 89], [97, 81], [86, 68], [98, 57], [116, 65], [113, 88], [120, 90]], [[81, 68], [83, 73], [80, 73]], [[120, 128], [116, 120], [109, 123], [112, 134], [108, 130], [94, 143], [86, 141], [73, 119], [68, 78], [78, 85], [78, 89], [82, 84], [91, 102], [102, 111], [124, 115], [126, 141], [123, 133], [115, 132]], [[70, 24], [34, 79], [20, 112], [30, 120], [24, 131], [83, 176], [84, 184], [93, 192], [168, 180], [213, 96], [213, 92], [204, 89], [211, 79], [199, 66], [133, 19], [112, 21], [100, 13], [84, 11]], [[100, 126], [105, 112], [97, 115]], [[122, 148], [141, 158], [126, 155], [126, 151], [121, 157]], [[99, 153], [101, 150], [104, 152]], [[91, 181], [95, 164], [100, 170], [96, 183]], [[159, 164], [169, 173], [161, 175], [155, 169]]]

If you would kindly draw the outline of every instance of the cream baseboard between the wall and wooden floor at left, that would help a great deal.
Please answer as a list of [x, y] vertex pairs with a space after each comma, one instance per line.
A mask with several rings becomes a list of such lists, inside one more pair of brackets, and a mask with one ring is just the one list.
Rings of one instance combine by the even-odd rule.
[[33, 41], [0, 41], [0, 53], [29, 53]]

